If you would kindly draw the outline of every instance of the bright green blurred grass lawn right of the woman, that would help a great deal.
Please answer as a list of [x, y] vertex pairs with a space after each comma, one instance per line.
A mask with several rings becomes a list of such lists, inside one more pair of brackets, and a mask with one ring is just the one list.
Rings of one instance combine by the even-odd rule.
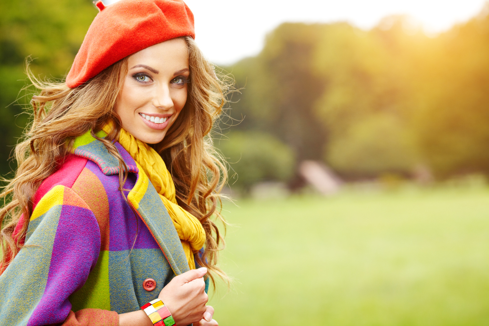
[[225, 206], [221, 326], [489, 325], [489, 190]]

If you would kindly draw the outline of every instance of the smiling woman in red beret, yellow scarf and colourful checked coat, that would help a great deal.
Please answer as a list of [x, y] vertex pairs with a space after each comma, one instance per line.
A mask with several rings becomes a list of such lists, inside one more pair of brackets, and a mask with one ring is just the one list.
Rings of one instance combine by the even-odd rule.
[[183, 1], [97, 7], [66, 83], [33, 79], [2, 193], [0, 325], [215, 326], [223, 84]]

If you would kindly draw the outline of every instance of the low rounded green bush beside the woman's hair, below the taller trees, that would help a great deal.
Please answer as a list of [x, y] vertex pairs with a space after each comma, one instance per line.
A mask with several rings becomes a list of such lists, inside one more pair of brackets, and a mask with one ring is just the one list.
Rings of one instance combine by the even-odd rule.
[[260, 181], [287, 181], [293, 174], [294, 156], [289, 146], [260, 132], [235, 131], [216, 146], [231, 170], [228, 183], [248, 191]]

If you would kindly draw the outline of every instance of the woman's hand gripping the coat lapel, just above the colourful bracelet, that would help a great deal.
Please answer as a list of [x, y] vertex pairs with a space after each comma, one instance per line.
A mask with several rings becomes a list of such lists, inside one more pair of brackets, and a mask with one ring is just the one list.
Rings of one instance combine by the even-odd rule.
[[[203, 276], [207, 268], [193, 269], [174, 277], [159, 293], [158, 298], [168, 307], [175, 320], [176, 326], [186, 326], [192, 323], [205, 321], [204, 313], [207, 312], [205, 303], [209, 300], [205, 293]], [[212, 309], [212, 307], [210, 307]], [[212, 309], [214, 314], [214, 309]], [[216, 326], [216, 324], [200, 324]]]

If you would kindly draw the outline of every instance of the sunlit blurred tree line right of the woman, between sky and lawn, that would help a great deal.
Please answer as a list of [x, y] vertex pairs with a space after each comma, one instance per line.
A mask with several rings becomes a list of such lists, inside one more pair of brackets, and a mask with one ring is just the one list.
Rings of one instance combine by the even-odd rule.
[[285, 23], [227, 68], [244, 87], [233, 115], [345, 177], [489, 173], [488, 37], [487, 12], [433, 38], [403, 16]]

